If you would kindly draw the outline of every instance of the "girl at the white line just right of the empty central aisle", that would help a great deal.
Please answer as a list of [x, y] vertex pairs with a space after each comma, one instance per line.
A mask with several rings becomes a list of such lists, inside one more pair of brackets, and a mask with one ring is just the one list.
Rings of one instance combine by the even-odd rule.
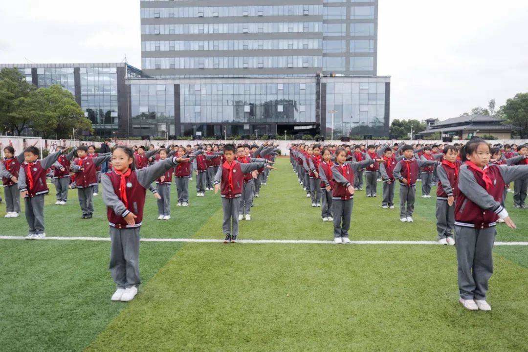
[[350, 243], [348, 229], [354, 205], [354, 174], [372, 163], [369, 155], [365, 160], [346, 161], [346, 150], [336, 150], [336, 164], [332, 166], [332, 177], [335, 180], [332, 189], [332, 213], [334, 214], [334, 242]]

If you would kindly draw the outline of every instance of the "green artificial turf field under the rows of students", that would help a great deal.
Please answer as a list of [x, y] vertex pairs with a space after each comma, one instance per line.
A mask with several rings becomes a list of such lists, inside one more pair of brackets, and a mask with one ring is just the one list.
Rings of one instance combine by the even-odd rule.
[[[276, 166], [240, 239], [332, 240], [289, 159]], [[220, 195], [196, 198], [194, 185], [186, 208], [172, 188], [169, 221], [147, 194], [142, 237], [221, 239]], [[48, 236], [108, 237], [100, 196], [91, 220], [80, 220], [76, 191], [54, 202]], [[518, 229], [499, 226], [497, 241], [527, 241], [528, 211], [511, 194], [506, 203]], [[436, 240], [434, 197], [417, 198], [409, 224], [380, 204], [356, 192], [352, 240]], [[26, 233], [24, 216], [0, 218], [0, 235]], [[496, 246], [492, 312], [458, 303], [451, 246], [142, 242], [129, 303], [110, 301], [109, 253], [109, 242], [0, 240], [0, 350], [528, 350], [528, 246]]]

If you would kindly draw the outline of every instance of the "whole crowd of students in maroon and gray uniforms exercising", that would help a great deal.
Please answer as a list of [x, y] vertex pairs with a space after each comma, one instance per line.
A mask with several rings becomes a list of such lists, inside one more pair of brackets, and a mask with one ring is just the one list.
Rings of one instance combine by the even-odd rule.
[[[70, 150], [71, 149], [71, 150]], [[24, 199], [29, 225], [27, 239], [42, 239], [46, 178], [56, 188], [56, 205], [68, 201], [68, 188], [77, 188], [81, 218], [94, 212], [93, 196], [107, 206], [110, 227], [110, 272], [117, 290], [112, 300], [129, 301], [139, 285], [139, 229], [143, 222], [146, 190], [157, 198], [158, 220], [171, 219], [171, 185], [174, 177], [177, 205], [188, 206], [188, 180], [196, 176], [196, 196], [221, 191], [224, 243], [236, 242], [238, 222], [251, 220], [254, 197], [274, 169], [278, 145], [191, 145], [155, 148], [116, 146], [96, 153], [94, 146], [57, 147], [39, 159], [34, 146], [15, 156], [4, 148], [0, 163], [6, 199], [6, 218], [20, 214]], [[493, 272], [495, 225], [515, 228], [505, 209], [508, 184], [514, 182], [514, 206], [526, 208], [528, 146], [490, 146], [473, 139], [466, 145], [306, 145], [289, 147], [290, 162], [312, 207], [321, 207], [322, 221], [333, 222], [335, 243], [351, 243], [349, 229], [354, 193], [363, 189], [377, 197], [382, 182], [381, 208], [394, 208], [394, 185], [399, 183], [401, 222], [412, 223], [416, 185], [431, 198], [437, 184], [438, 241], [456, 244], [460, 302], [465, 308], [490, 310], [485, 301]], [[108, 163], [108, 164], [106, 164]], [[103, 165], [106, 173], [102, 173]], [[156, 187], [152, 184], [155, 183]]]

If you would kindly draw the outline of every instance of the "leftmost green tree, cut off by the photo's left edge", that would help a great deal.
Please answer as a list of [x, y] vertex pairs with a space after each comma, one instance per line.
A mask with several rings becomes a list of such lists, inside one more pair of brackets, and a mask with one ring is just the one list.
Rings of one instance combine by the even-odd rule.
[[0, 130], [16, 132], [18, 136], [28, 127], [31, 118], [21, 111], [27, 97], [35, 91], [17, 69], [0, 70]]

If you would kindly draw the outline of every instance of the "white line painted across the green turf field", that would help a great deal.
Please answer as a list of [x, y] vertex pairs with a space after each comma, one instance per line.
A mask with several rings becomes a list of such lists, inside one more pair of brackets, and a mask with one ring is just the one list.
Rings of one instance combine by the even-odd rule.
[[[24, 240], [24, 236], [0, 236], [0, 240]], [[46, 236], [44, 240], [58, 241], [110, 241], [109, 237], [68, 237]], [[195, 242], [195, 243], [221, 243], [216, 239], [149, 239], [142, 238], [142, 242]], [[239, 243], [282, 243], [282, 244], [334, 244], [334, 241], [322, 240], [238, 240]], [[440, 245], [437, 241], [351, 241], [352, 244], [426, 244]], [[495, 245], [521, 245], [528, 246], [528, 242], [495, 242]]]

